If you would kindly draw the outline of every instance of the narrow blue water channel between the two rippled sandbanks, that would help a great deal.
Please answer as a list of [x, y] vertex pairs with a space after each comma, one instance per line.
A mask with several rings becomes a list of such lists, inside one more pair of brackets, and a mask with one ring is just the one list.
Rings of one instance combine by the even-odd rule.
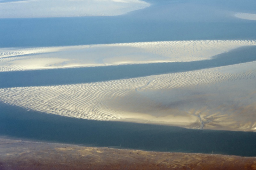
[[89, 83], [199, 70], [256, 61], [256, 46], [237, 48], [211, 60], [86, 68], [0, 72], [0, 88]]

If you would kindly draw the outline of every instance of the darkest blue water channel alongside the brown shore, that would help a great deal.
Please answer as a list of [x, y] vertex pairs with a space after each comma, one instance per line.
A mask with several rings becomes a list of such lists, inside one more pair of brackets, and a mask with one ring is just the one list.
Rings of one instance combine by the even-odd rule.
[[256, 156], [256, 133], [194, 130], [62, 117], [0, 103], [0, 135], [44, 142], [165, 152]]

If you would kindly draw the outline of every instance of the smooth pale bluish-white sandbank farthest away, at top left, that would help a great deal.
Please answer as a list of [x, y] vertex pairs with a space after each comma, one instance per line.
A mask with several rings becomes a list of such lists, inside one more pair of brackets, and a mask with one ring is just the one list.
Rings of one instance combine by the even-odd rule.
[[148, 6], [140, 0], [20, 0], [0, 3], [0, 18], [114, 16]]

